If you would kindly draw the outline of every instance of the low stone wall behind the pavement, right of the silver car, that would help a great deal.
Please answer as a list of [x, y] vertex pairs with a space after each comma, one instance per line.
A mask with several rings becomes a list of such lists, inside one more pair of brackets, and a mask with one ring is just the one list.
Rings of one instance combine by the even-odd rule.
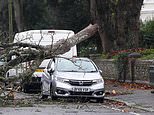
[[[96, 65], [102, 70], [103, 77], [117, 79], [118, 72], [115, 61], [112, 59], [95, 59]], [[136, 60], [135, 62], [135, 80], [149, 81], [149, 66], [154, 65], [154, 60]], [[130, 80], [130, 65], [127, 70], [127, 80]]]

